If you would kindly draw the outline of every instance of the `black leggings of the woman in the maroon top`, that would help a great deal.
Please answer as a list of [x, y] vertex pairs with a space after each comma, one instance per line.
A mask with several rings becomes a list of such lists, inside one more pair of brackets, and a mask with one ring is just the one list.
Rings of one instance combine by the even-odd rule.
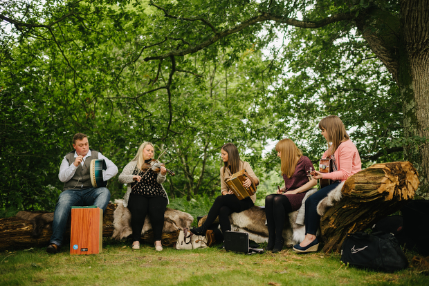
[[281, 240], [286, 214], [292, 211], [291, 202], [284, 195], [268, 195], [265, 198], [265, 215], [269, 240]]

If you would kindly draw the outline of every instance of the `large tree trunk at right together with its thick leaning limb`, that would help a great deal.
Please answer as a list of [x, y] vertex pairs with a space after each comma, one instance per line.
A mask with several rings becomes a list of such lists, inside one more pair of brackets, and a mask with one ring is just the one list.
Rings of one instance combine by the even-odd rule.
[[416, 195], [429, 199], [429, 0], [399, 2], [400, 17], [374, 5], [356, 26], [399, 86], [404, 158], [419, 173]]

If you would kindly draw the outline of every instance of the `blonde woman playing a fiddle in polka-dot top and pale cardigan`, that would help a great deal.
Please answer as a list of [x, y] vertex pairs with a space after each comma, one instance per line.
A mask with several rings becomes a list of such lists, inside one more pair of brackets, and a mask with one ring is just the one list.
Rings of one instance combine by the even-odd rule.
[[161, 234], [164, 226], [164, 212], [168, 197], [162, 183], [165, 181], [167, 169], [161, 165], [159, 173], [152, 170], [154, 145], [145, 142], [138, 148], [136, 157], [125, 166], [119, 175], [119, 182], [128, 184], [124, 196], [124, 207], [131, 212], [131, 229], [133, 231], [132, 249], [140, 249], [140, 236], [149, 214], [156, 251], [163, 250]]

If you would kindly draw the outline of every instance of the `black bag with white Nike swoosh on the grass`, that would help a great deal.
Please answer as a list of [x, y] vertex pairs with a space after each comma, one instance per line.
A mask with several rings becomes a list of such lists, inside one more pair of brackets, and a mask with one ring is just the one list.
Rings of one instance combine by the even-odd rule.
[[408, 267], [408, 260], [392, 233], [348, 233], [341, 261], [349, 265], [393, 272]]

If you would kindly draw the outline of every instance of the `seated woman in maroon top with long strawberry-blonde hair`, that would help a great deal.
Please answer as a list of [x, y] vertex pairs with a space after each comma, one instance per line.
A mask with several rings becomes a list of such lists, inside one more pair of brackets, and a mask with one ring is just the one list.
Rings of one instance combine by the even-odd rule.
[[317, 180], [307, 177], [307, 171], [313, 169], [310, 159], [289, 138], [275, 145], [280, 157], [284, 187], [277, 194], [265, 198], [265, 214], [268, 226], [268, 245], [266, 250], [278, 252], [283, 249], [282, 237], [286, 214], [300, 209], [302, 199], [309, 189], [316, 186]]

